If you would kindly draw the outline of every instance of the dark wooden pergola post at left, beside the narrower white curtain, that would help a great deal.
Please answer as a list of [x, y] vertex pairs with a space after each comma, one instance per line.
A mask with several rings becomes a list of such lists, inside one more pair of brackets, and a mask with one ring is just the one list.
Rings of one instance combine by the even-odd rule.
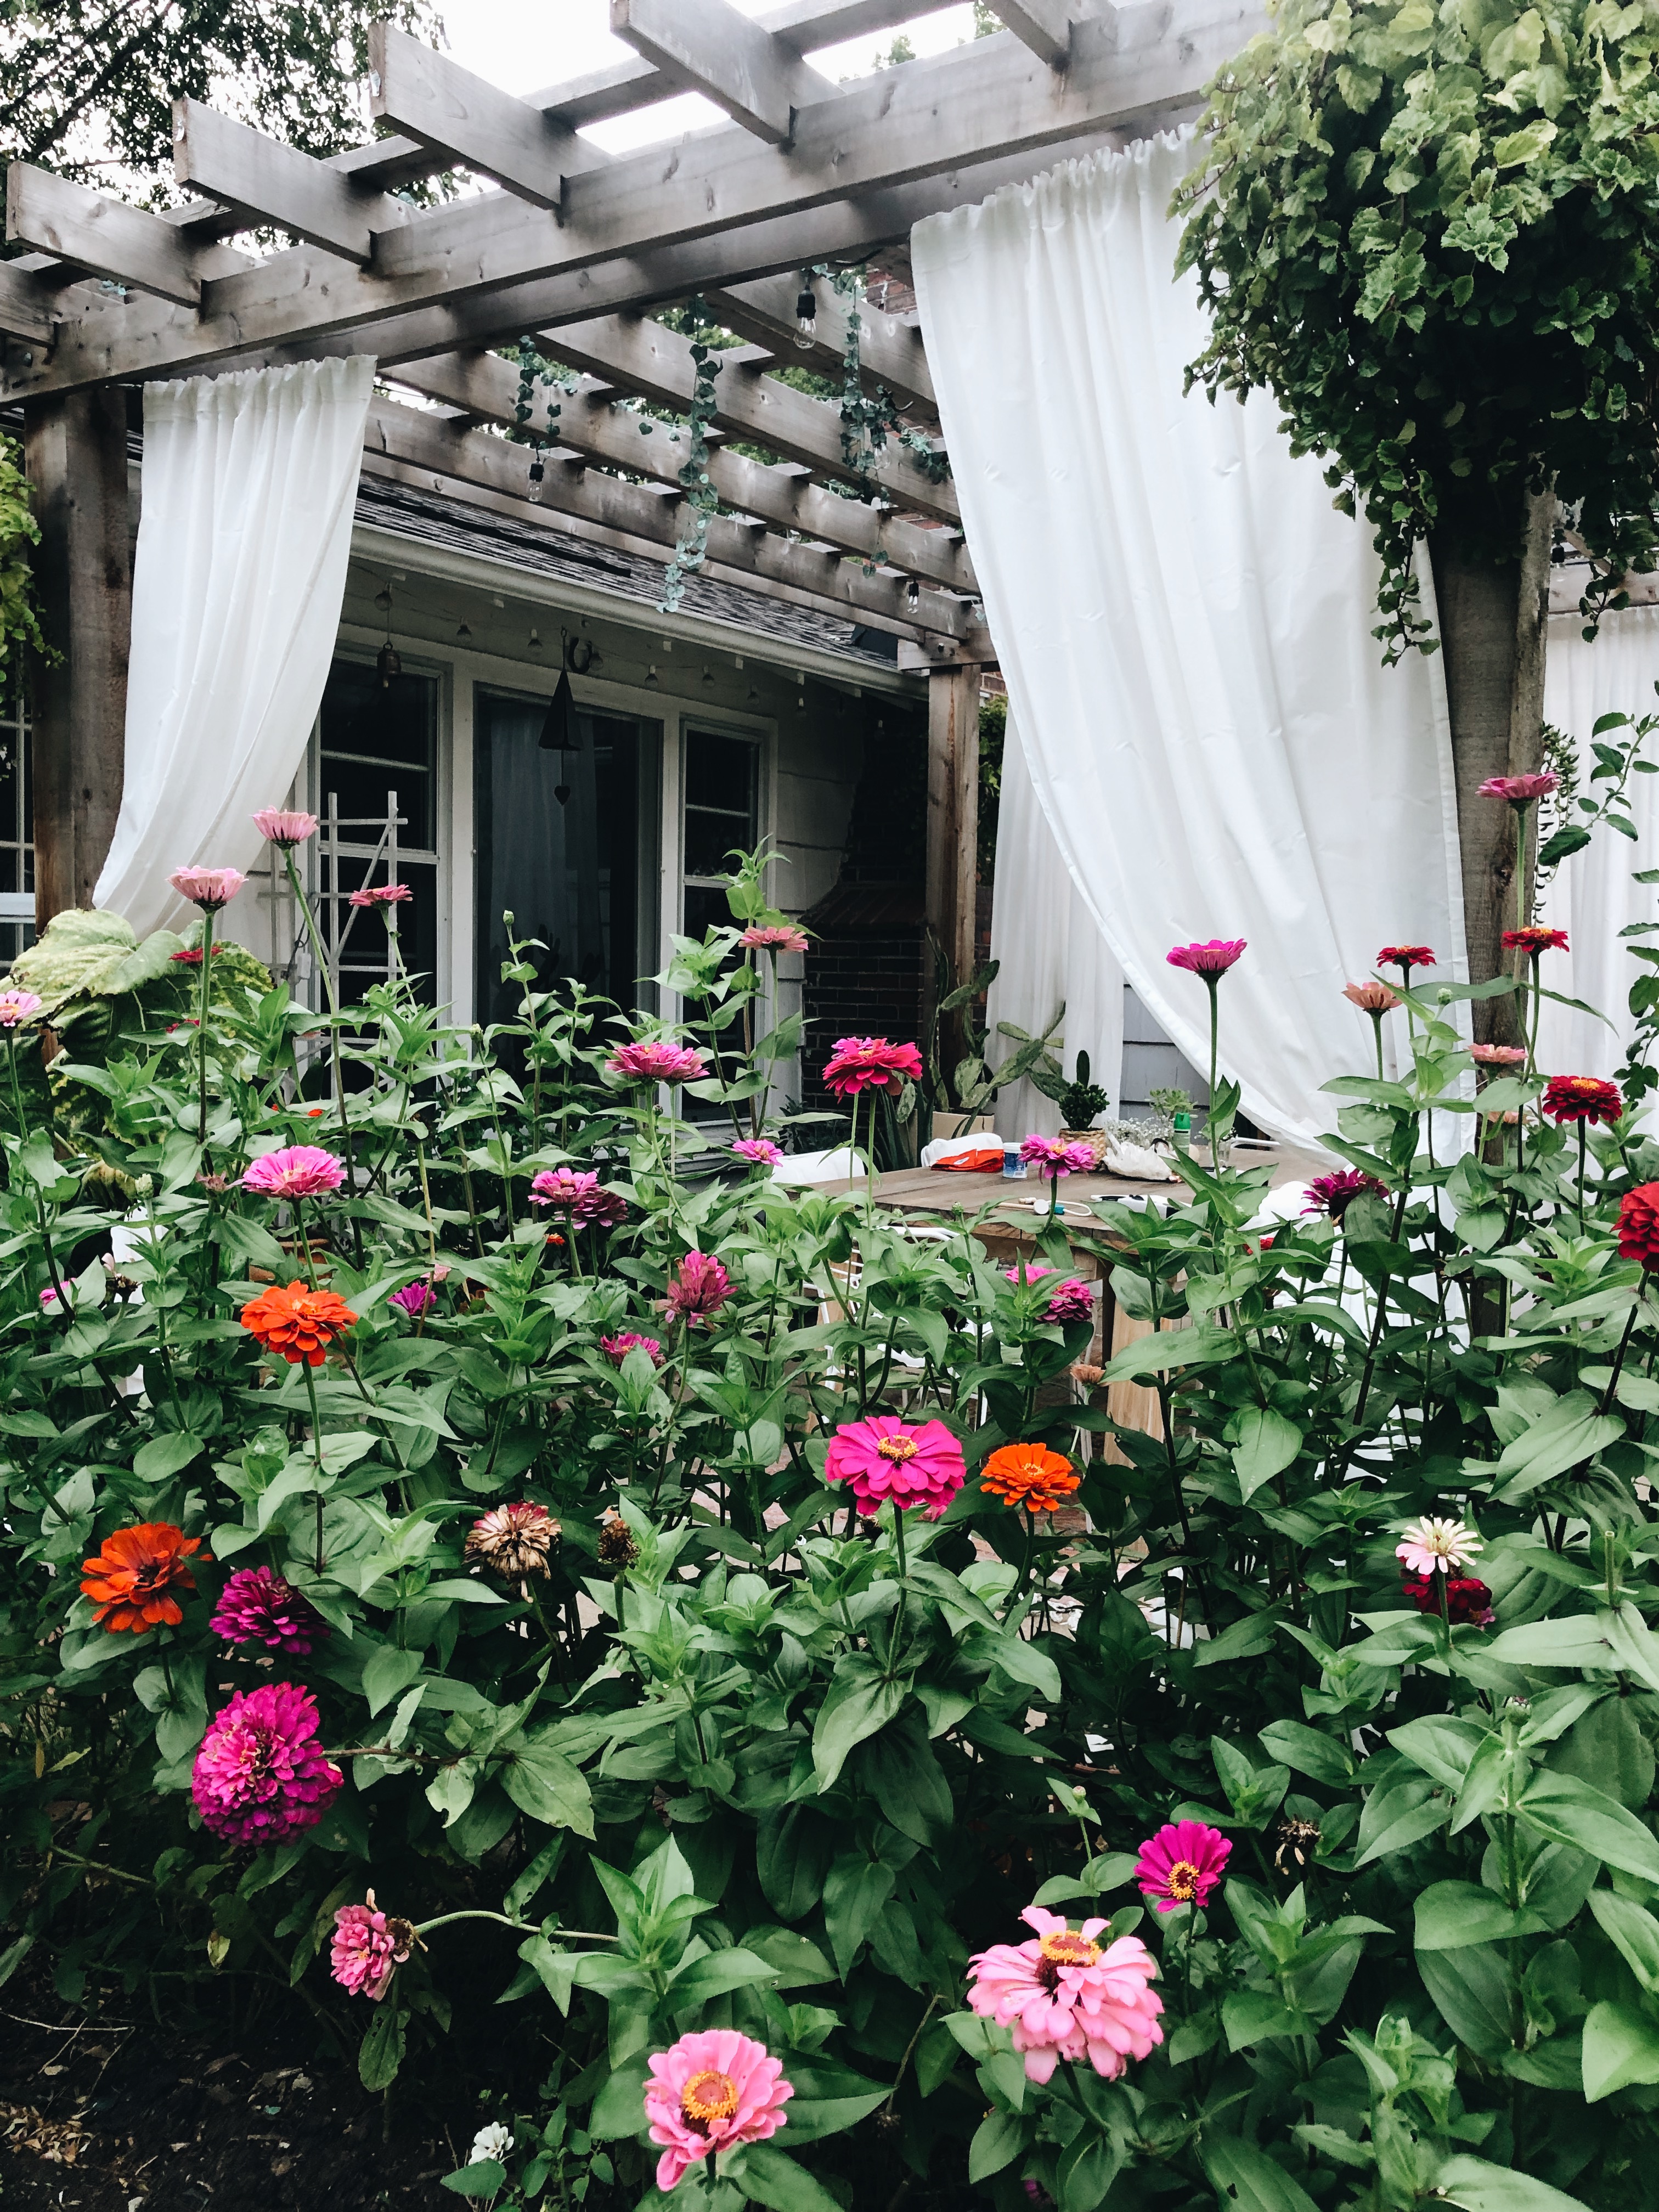
[[31, 400], [24, 465], [40, 522], [35, 588], [53, 657], [31, 668], [35, 927], [91, 907], [122, 810], [133, 546], [126, 396]]

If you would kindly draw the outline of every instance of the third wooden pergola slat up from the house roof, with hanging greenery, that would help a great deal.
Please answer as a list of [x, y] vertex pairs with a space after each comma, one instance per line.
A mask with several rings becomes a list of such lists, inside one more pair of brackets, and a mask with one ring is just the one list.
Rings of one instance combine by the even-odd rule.
[[[573, 369], [639, 392], [659, 407], [686, 409], [697, 385], [690, 338], [646, 316], [604, 314], [593, 323], [564, 323], [546, 334], [546, 347]], [[737, 349], [719, 358], [723, 367], [714, 378], [714, 422], [723, 431], [752, 438], [825, 476], [852, 478], [841, 451], [838, 407], [759, 374]], [[960, 529], [962, 509], [949, 480], [933, 484], [894, 438], [872, 458], [867, 473], [896, 507]]]

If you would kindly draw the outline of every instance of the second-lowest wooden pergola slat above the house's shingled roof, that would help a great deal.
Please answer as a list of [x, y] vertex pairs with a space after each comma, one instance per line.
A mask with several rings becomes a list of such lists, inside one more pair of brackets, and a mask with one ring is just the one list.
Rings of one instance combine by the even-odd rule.
[[[420, 361], [396, 378], [422, 398], [460, 407], [484, 422], [509, 425], [518, 407], [518, 374], [495, 354], [449, 354]], [[613, 469], [672, 484], [686, 462], [686, 431], [617, 405], [606, 385], [584, 383], [560, 400], [557, 442]], [[953, 531], [918, 529], [867, 500], [823, 491], [799, 465], [768, 469], [743, 453], [710, 449], [708, 482], [726, 507], [774, 529], [796, 531], [898, 568], [920, 582], [978, 597], [973, 564]]]

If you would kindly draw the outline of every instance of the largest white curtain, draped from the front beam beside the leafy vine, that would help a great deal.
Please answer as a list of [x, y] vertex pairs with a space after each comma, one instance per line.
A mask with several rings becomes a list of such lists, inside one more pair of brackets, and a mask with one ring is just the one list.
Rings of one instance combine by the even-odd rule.
[[[1380, 666], [1369, 531], [1292, 460], [1272, 400], [1181, 396], [1206, 343], [1194, 281], [1170, 281], [1188, 166], [1175, 137], [1064, 164], [918, 223], [911, 259], [1060, 860], [1199, 1068], [1206, 991], [1164, 956], [1250, 940], [1223, 1062], [1254, 1121], [1307, 1141], [1336, 1108], [1318, 1086], [1371, 1051], [1343, 982], [1400, 938], [1464, 973], [1444, 684], [1438, 659]], [[1002, 880], [998, 909], [1024, 927]]]

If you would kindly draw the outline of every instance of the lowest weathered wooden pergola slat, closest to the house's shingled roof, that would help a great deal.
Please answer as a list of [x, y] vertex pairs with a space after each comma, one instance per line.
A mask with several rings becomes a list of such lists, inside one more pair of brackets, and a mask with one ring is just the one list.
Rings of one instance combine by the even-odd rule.
[[[369, 405], [365, 449], [405, 467], [429, 469], [465, 484], [482, 484], [553, 513], [586, 515], [672, 553], [679, 538], [679, 498], [644, 484], [626, 484], [619, 476], [599, 476], [580, 460], [549, 453], [540, 484], [529, 478], [524, 447], [489, 431], [469, 431], [434, 414], [398, 407], [396, 400]], [[863, 566], [816, 546], [785, 544], [770, 531], [728, 515], [710, 515], [708, 557], [726, 571], [743, 575], [750, 586], [779, 582], [810, 591], [823, 606], [854, 622], [880, 619], [916, 635], [940, 630], [967, 633], [969, 615], [960, 599], [922, 593], [911, 606], [905, 586], [894, 577], [865, 575]]]

